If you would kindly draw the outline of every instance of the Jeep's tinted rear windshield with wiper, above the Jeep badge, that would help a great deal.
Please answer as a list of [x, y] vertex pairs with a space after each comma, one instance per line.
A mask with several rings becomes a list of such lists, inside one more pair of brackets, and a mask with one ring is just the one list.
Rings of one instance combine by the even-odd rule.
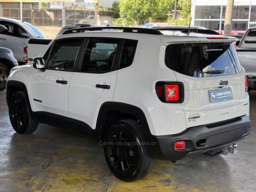
[[213, 77], [241, 72], [233, 43], [183, 43], [168, 45], [168, 68], [192, 77]]

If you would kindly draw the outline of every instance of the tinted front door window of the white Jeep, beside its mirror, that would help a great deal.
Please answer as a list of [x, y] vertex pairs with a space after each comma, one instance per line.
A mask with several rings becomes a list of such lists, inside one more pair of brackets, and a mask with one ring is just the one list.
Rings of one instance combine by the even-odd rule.
[[72, 70], [83, 39], [64, 39], [56, 41], [50, 53], [47, 68]]

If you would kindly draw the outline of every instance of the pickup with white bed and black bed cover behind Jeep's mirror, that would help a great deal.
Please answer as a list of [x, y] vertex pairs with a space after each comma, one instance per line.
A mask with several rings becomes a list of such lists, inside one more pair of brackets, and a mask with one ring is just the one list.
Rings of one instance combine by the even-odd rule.
[[[93, 24], [80, 24], [73, 23], [72, 25], [66, 25], [61, 28], [58, 35], [61, 35], [64, 31], [68, 29], [74, 29], [79, 27], [95, 27], [97, 25]], [[26, 46], [24, 47], [24, 59], [26, 64], [32, 64], [33, 58], [38, 57], [40, 53], [46, 48], [46, 46], [51, 42], [51, 39], [28, 39], [26, 42]]]

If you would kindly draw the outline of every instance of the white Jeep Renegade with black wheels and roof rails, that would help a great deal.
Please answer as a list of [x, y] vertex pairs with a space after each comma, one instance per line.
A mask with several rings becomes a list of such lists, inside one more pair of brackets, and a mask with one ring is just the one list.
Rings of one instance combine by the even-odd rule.
[[236, 152], [250, 132], [248, 81], [236, 38], [125, 27], [71, 29], [33, 66], [11, 70], [14, 130], [38, 123], [99, 139], [112, 173], [134, 181], [153, 158]]

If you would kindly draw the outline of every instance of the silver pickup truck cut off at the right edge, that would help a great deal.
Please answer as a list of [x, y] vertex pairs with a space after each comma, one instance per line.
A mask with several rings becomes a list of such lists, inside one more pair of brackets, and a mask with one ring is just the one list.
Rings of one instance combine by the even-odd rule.
[[248, 74], [249, 89], [256, 89], [256, 27], [249, 28], [236, 46], [240, 63]]

